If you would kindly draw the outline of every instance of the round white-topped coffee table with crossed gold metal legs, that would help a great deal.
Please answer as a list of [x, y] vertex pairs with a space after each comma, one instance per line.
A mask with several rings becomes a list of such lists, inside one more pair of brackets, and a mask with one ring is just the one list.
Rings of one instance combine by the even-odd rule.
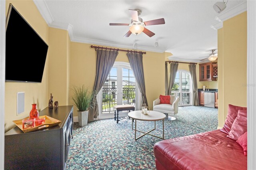
[[[130, 118], [132, 118], [132, 130], [135, 130], [135, 140], [138, 140], [139, 138], [141, 138], [142, 136], [145, 136], [146, 134], [160, 138], [160, 139], [164, 139], [164, 119], [165, 119], [165, 115], [164, 113], [160, 113], [157, 111], [150, 111], [150, 113], [148, 115], [143, 115], [141, 113], [141, 111], [132, 111], [130, 113], [128, 113], [128, 116]], [[135, 129], [133, 128], [133, 120], [135, 120]], [[143, 132], [141, 130], [137, 130], [137, 120], [139, 121], [155, 121], [155, 127], [151, 130], [149, 130], [148, 132]], [[156, 129], [156, 121], [163, 121], [163, 137], [160, 136], [156, 136], [154, 134], [150, 134], [150, 132], [152, 132], [153, 130]], [[141, 136], [139, 136], [138, 138], [136, 138], [136, 132], [142, 132], [144, 134], [142, 134]]]

